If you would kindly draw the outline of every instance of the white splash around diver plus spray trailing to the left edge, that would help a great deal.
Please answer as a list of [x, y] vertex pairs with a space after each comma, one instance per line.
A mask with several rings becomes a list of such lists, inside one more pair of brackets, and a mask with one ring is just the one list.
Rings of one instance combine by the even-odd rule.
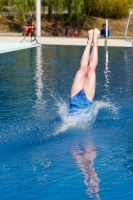
[[[9, 148], [9, 146], [20, 148], [24, 145], [44, 142], [46, 139], [65, 133], [69, 129], [87, 129], [95, 123], [101, 111], [104, 111], [102, 120], [116, 120], [119, 117], [118, 107], [105, 100], [94, 101], [89, 113], [84, 110], [85, 112], [81, 111], [79, 115], [69, 116], [68, 100], [63, 100], [52, 91], [49, 92], [54, 102], [55, 117], [53, 117], [53, 113], [49, 112], [49, 109], [47, 111], [43, 110], [43, 106], [40, 105], [42, 109], [38, 109], [39, 117], [38, 113], [36, 113], [36, 115], [32, 115], [31, 121], [20, 122], [19, 124], [14, 123], [1, 130], [0, 144], [2, 149]], [[52, 119], [51, 116], [53, 117]]]

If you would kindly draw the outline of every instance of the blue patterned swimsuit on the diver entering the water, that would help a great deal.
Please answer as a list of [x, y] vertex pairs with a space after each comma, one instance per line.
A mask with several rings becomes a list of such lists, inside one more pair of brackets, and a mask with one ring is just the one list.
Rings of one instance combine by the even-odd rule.
[[89, 112], [91, 105], [92, 102], [89, 101], [84, 90], [81, 90], [70, 98], [69, 114], [75, 114], [76, 112], [83, 109], [86, 109]]

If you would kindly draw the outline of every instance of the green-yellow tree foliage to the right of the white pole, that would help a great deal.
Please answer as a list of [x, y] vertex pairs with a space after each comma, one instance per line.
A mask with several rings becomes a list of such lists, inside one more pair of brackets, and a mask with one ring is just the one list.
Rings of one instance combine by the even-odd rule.
[[100, 17], [121, 18], [128, 14], [133, 5], [132, 0], [42, 0], [49, 6], [49, 19], [52, 11], [62, 14], [68, 12], [68, 20], [73, 15], [77, 18], [82, 14], [91, 14]]

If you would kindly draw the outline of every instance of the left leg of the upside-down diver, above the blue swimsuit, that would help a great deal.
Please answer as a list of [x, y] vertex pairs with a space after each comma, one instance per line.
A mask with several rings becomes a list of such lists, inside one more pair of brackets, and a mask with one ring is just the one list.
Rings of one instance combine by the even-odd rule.
[[76, 73], [73, 84], [72, 84], [71, 97], [77, 94], [84, 87], [88, 62], [90, 59], [90, 48], [92, 44], [93, 30], [88, 31], [88, 38], [89, 40], [87, 42], [87, 45], [85, 47], [85, 50], [83, 52], [83, 55], [80, 61], [80, 68], [78, 72]]

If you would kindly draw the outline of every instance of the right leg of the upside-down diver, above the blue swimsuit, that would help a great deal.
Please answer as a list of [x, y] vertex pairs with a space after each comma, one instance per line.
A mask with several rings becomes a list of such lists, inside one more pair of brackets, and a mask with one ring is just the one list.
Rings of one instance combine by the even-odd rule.
[[93, 34], [93, 49], [90, 56], [90, 63], [89, 67], [87, 69], [87, 74], [85, 78], [84, 83], [84, 91], [88, 97], [88, 99], [92, 102], [94, 95], [95, 95], [95, 87], [96, 87], [96, 66], [98, 63], [98, 37], [99, 37], [100, 31], [98, 29], [94, 29]]

